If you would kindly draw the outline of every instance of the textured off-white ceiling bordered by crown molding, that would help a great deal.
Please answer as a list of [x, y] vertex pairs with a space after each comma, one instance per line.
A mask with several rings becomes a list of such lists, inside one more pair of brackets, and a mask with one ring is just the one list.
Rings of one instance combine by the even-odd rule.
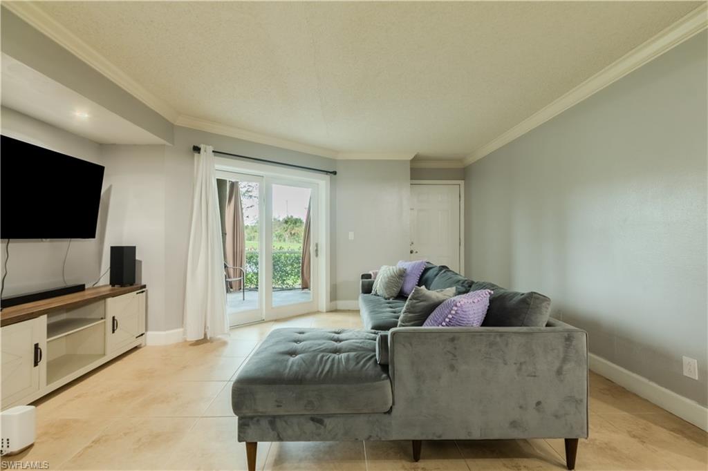
[[698, 2], [42, 2], [185, 115], [461, 158]]

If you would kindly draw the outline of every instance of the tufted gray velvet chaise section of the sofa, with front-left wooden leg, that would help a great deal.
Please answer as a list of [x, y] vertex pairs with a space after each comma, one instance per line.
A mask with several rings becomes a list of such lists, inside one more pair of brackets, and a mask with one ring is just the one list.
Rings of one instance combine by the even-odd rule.
[[[373, 422], [392, 405], [388, 368], [376, 361], [376, 339], [376, 332], [366, 330], [270, 332], [232, 389], [249, 470], [258, 441], [336, 441], [375, 433]], [[362, 435], [350, 436], [351, 427]]]

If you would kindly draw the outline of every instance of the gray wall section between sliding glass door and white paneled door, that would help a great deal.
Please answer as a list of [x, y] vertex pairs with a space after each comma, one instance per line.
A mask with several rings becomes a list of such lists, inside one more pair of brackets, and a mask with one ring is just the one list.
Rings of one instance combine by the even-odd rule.
[[[337, 161], [336, 299], [355, 301], [359, 275], [408, 260], [409, 161]], [[354, 240], [349, 240], [349, 232]]]

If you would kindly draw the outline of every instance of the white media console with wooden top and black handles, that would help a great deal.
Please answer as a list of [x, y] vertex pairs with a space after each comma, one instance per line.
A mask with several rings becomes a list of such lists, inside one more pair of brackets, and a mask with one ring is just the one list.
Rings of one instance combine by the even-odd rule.
[[144, 285], [97, 286], [0, 313], [2, 409], [27, 405], [144, 345]]

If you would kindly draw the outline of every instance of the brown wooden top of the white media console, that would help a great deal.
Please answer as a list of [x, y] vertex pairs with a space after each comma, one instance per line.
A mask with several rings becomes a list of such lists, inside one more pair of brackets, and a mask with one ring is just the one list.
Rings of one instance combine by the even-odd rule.
[[95, 288], [86, 288], [79, 293], [65, 294], [55, 298], [42, 299], [42, 301], [33, 301], [32, 303], [18, 304], [4, 308], [0, 311], [0, 325], [11, 325], [23, 320], [38, 318], [40, 315], [51, 313], [54, 310], [78, 308], [86, 304], [95, 303], [105, 298], [113, 298], [125, 293], [132, 293], [145, 289], [144, 284], [134, 284], [132, 286], [96, 286]]

